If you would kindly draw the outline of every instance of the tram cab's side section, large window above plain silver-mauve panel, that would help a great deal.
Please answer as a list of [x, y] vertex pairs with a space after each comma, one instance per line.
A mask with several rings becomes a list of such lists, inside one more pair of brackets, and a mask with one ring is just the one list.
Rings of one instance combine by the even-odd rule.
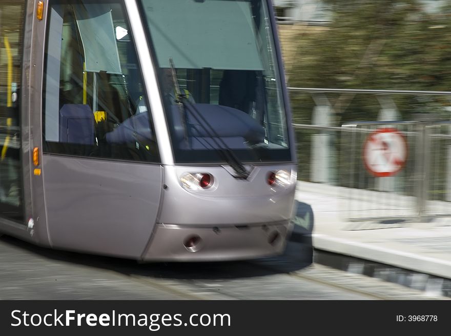
[[46, 220], [54, 247], [139, 257], [162, 168], [124, 2], [54, 0], [43, 78]]

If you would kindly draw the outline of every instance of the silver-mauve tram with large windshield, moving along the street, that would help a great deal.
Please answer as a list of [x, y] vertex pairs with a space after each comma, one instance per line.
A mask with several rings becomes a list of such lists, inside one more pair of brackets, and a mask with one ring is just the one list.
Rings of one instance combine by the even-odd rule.
[[296, 154], [270, 0], [2, 0], [0, 232], [140, 261], [284, 251]]

